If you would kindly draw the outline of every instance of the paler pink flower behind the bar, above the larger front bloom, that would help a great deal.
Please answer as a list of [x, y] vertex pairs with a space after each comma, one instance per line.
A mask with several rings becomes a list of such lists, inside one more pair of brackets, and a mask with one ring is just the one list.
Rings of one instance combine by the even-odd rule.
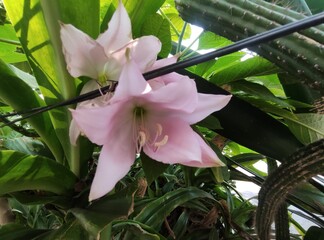
[[[119, 1], [108, 30], [97, 40], [71, 24], [61, 24], [63, 53], [69, 73], [73, 77], [88, 76], [95, 80], [88, 81], [81, 94], [96, 90], [99, 85], [109, 85], [108, 80], [118, 80], [121, 68], [126, 63], [126, 49], [129, 49], [130, 56], [142, 72], [152, 66], [161, 50], [159, 39], [144, 36], [133, 40], [131, 30], [131, 22], [122, 1]], [[77, 109], [105, 104], [109, 97], [82, 102], [77, 105]], [[71, 121], [69, 132], [71, 143], [76, 145], [81, 131], [74, 120]]]

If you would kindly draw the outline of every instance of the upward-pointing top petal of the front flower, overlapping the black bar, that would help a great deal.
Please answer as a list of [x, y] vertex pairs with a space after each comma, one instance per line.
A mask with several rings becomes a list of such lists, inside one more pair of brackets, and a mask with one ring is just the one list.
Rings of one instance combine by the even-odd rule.
[[136, 63], [128, 60], [122, 69], [118, 85], [111, 102], [120, 101], [129, 97], [141, 96], [151, 90]]

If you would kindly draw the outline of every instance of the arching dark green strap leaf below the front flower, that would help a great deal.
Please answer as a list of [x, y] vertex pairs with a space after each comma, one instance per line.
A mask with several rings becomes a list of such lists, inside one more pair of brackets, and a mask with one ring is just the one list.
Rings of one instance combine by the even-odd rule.
[[212, 195], [195, 187], [180, 188], [164, 194], [147, 204], [134, 220], [158, 230], [164, 219], [178, 206], [196, 198], [209, 198]]

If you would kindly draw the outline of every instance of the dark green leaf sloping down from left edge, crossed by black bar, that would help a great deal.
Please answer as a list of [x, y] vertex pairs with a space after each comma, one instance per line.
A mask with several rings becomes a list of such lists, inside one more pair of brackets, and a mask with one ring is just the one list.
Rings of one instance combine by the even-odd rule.
[[[13, 67], [0, 60], [0, 98], [17, 111], [44, 106], [38, 94], [20, 79]], [[54, 132], [48, 113], [36, 115], [27, 120], [52, 151], [56, 160], [62, 159], [62, 147]]]

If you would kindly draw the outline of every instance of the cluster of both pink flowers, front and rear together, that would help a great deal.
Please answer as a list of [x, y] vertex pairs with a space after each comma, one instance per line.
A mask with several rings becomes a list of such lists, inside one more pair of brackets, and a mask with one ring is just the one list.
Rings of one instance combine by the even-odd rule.
[[190, 125], [222, 109], [231, 96], [200, 94], [192, 79], [177, 73], [146, 81], [143, 72], [177, 59], [156, 61], [161, 43], [154, 36], [132, 39], [130, 19], [121, 2], [108, 30], [98, 39], [65, 24], [61, 25], [61, 39], [70, 74], [93, 79], [82, 92], [109, 84], [108, 80], [118, 81], [113, 95], [80, 103], [71, 110], [72, 144], [83, 133], [102, 145], [90, 201], [111, 191], [141, 151], [168, 164], [224, 165]]

